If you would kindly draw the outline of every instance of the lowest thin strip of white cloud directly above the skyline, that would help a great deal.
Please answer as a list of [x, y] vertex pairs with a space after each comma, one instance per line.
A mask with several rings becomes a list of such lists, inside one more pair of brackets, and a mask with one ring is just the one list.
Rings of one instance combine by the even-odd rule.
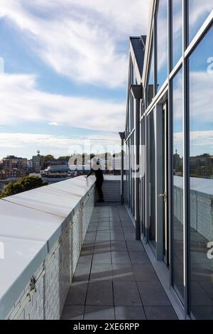
[[[0, 133], [0, 159], [3, 158], [4, 152], [11, 152], [18, 155], [22, 152], [23, 156], [31, 158], [36, 148], [41, 148], [41, 153], [53, 153], [54, 156], [68, 155], [75, 153], [97, 153], [97, 146], [102, 153], [105, 151], [120, 151], [120, 138], [117, 134], [93, 134], [76, 139], [71, 136], [53, 136], [50, 134], [31, 134], [31, 133]], [[24, 153], [23, 153], [24, 149]], [[4, 150], [4, 151], [3, 151]]]

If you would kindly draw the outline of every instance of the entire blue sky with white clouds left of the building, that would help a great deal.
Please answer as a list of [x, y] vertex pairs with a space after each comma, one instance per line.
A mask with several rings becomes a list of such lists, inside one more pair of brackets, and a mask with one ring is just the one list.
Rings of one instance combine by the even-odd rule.
[[129, 36], [146, 34], [149, 1], [0, 0], [0, 158], [118, 145]]

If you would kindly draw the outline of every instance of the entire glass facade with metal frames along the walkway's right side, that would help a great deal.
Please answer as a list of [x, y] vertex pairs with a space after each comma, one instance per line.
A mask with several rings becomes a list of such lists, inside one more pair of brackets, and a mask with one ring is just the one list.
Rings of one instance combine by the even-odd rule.
[[[170, 293], [178, 301], [182, 316], [210, 320], [213, 320], [213, 22], [209, 19], [208, 26], [203, 23], [207, 18], [212, 19], [212, 7], [212, 0], [156, 1], [151, 19], [154, 24], [150, 27], [153, 33], [149, 33], [147, 42], [150, 50], [143, 64], [146, 76], [142, 77], [141, 103], [145, 108], [140, 119], [130, 126], [133, 129], [136, 122], [141, 124], [141, 239], [162, 262], [159, 271], [159, 266], [155, 267], [159, 276], [163, 268], [166, 273], [169, 271], [163, 279], [168, 277]], [[182, 34], [185, 33], [185, 40], [192, 41], [200, 28], [199, 40], [182, 53]], [[170, 75], [168, 55], [172, 60]], [[164, 82], [167, 85], [160, 93]], [[159, 92], [157, 95], [153, 87]], [[131, 102], [131, 113], [133, 110]], [[135, 143], [134, 136], [133, 130], [126, 140], [129, 152]], [[133, 170], [128, 173], [126, 192], [134, 217], [137, 192]]]

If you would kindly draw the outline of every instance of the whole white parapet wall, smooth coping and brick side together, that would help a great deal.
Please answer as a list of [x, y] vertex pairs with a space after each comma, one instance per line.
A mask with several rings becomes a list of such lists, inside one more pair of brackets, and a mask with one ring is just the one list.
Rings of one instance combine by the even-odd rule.
[[94, 207], [94, 178], [0, 200], [0, 318], [60, 319]]

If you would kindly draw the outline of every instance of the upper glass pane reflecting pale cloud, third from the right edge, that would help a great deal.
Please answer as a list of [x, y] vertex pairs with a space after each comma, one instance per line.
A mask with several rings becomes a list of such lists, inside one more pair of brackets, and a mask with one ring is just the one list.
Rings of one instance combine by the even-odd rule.
[[157, 16], [158, 39], [158, 85], [157, 90], [168, 77], [168, 0], [160, 0]]

